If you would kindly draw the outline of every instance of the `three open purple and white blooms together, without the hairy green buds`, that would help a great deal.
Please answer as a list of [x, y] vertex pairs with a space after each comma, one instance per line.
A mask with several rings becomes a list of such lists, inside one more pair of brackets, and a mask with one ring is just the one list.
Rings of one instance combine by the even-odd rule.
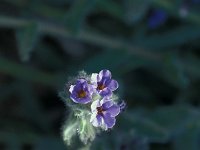
[[107, 130], [115, 125], [115, 117], [120, 113], [120, 105], [114, 101], [118, 82], [112, 79], [109, 70], [93, 73], [89, 78], [78, 78], [70, 85], [70, 99], [74, 103], [90, 107], [90, 123], [94, 127]]

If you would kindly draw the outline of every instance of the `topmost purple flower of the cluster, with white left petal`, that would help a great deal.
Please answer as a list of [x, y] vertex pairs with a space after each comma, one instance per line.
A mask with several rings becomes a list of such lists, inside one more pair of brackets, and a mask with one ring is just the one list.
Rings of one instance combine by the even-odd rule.
[[99, 74], [93, 73], [91, 82], [102, 97], [111, 96], [112, 91], [118, 88], [118, 82], [111, 79], [111, 72], [109, 70], [101, 70]]

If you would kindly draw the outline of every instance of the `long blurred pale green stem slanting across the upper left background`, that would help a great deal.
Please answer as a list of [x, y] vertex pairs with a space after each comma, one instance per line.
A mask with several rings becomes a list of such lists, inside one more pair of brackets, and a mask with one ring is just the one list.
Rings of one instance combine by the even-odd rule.
[[160, 58], [158, 54], [152, 54], [152, 52], [146, 51], [140, 47], [136, 47], [130, 43], [126, 43], [125, 40], [119, 40], [119, 38], [111, 38], [87, 30], [82, 30], [78, 34], [73, 34], [61, 25], [58, 26], [51, 23], [45, 23], [40, 20], [16, 19], [7, 16], [0, 16], [0, 27], [19, 28], [24, 27], [31, 22], [36, 22], [39, 31], [43, 34], [78, 39], [83, 42], [94, 43], [96, 45], [109, 47], [111, 49], [126, 49], [131, 54], [135, 54], [146, 59], [157, 60]]

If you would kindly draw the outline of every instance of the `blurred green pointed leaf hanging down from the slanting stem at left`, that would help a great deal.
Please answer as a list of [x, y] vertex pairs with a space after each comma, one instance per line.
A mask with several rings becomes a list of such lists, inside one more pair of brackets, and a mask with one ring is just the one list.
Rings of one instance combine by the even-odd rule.
[[28, 61], [30, 53], [33, 51], [39, 38], [37, 24], [29, 23], [17, 29], [16, 37], [20, 58], [22, 61]]

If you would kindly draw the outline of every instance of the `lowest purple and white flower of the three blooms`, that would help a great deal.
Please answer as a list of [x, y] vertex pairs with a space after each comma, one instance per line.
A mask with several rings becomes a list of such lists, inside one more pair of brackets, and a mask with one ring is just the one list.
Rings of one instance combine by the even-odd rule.
[[91, 105], [92, 115], [90, 122], [95, 127], [102, 127], [105, 130], [115, 125], [115, 117], [120, 113], [120, 107], [112, 100], [96, 100]]

